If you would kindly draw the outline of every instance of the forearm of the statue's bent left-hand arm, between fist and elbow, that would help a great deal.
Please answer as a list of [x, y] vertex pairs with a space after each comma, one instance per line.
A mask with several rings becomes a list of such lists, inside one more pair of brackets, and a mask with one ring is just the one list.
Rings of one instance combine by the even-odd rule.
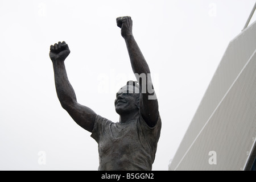
[[64, 61], [54, 61], [55, 87], [60, 104], [64, 109], [76, 102], [76, 94], [67, 76]]

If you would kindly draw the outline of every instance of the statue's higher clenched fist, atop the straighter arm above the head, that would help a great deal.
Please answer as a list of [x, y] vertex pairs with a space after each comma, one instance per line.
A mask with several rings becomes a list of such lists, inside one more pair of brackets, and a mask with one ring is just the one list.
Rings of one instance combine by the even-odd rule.
[[121, 35], [123, 38], [133, 35], [133, 20], [130, 16], [118, 17], [117, 26], [121, 28]]

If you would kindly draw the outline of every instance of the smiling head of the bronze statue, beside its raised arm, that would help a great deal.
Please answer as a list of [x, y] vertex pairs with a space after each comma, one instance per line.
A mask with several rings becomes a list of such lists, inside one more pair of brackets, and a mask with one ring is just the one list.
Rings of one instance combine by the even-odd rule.
[[139, 110], [139, 84], [137, 81], [127, 81], [117, 92], [115, 99], [115, 111], [121, 115], [123, 113], [131, 113]]

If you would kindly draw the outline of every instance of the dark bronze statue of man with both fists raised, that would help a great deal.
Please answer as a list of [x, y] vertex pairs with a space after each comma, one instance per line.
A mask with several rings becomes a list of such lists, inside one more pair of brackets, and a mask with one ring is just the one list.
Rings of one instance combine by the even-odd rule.
[[61, 106], [79, 126], [92, 133], [91, 137], [98, 143], [98, 170], [150, 171], [162, 125], [158, 100], [152, 86], [150, 69], [133, 36], [131, 17], [118, 17], [117, 26], [121, 28], [131, 67], [139, 83], [128, 81], [117, 92], [114, 104], [120, 116], [119, 122], [109, 121], [77, 102], [65, 70], [64, 60], [70, 53], [65, 42], [54, 44], [49, 52], [56, 92]]

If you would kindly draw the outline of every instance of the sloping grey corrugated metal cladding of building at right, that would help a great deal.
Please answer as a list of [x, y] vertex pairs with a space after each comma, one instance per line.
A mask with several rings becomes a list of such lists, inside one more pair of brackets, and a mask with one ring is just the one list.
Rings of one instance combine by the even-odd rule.
[[169, 170], [243, 170], [255, 137], [256, 22], [229, 43]]

